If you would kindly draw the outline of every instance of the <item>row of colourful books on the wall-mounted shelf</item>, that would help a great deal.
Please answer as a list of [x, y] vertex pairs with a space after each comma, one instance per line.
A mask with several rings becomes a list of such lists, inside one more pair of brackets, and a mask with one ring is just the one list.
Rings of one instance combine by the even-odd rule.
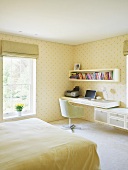
[[72, 73], [71, 79], [85, 80], [113, 80], [113, 71], [109, 72], [93, 72], [93, 73]]

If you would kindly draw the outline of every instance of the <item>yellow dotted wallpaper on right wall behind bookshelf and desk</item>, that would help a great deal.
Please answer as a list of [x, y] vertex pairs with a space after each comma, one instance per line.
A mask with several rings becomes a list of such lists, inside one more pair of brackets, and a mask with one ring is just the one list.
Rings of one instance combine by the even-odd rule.
[[[126, 57], [123, 56], [123, 42], [128, 39], [128, 35], [104, 39], [91, 43], [78, 45], [75, 48], [74, 62], [81, 64], [81, 69], [107, 69], [119, 68], [119, 83], [105, 82], [75, 82], [79, 85], [81, 95], [86, 89], [95, 89], [101, 95], [103, 88], [104, 98], [121, 101], [121, 107], [126, 107]], [[86, 119], [93, 121], [93, 108], [86, 107]]]

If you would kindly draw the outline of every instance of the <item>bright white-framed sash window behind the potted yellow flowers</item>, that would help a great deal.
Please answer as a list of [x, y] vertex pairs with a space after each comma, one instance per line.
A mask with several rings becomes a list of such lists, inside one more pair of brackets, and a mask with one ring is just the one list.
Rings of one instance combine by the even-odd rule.
[[24, 104], [22, 116], [36, 112], [36, 59], [3, 57], [3, 118], [18, 117], [15, 105]]

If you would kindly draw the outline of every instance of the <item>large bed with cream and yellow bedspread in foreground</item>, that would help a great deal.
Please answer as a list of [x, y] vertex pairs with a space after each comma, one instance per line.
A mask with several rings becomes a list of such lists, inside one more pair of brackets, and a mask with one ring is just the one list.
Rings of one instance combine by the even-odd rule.
[[96, 144], [38, 118], [0, 123], [0, 170], [99, 170]]

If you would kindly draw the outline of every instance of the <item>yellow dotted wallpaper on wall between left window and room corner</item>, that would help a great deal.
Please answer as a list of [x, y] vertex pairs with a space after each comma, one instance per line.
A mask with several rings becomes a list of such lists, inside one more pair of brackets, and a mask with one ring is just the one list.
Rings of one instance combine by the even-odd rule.
[[62, 119], [59, 97], [72, 88], [68, 72], [73, 65], [73, 46], [0, 34], [0, 40], [39, 45], [37, 59], [37, 116], [45, 121]]

